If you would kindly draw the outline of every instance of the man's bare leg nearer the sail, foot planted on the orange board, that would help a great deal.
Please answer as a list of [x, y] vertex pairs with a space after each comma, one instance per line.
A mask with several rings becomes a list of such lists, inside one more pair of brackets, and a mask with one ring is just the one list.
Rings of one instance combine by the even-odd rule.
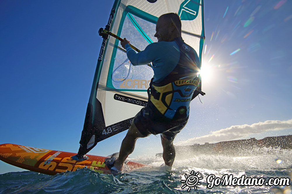
[[121, 170], [123, 168], [124, 161], [126, 160], [128, 155], [130, 155], [134, 151], [136, 140], [140, 137], [147, 136], [144, 136], [140, 133], [133, 121], [131, 127], [126, 134], [126, 137], [122, 141], [119, 157], [114, 162], [114, 166], [118, 170]]

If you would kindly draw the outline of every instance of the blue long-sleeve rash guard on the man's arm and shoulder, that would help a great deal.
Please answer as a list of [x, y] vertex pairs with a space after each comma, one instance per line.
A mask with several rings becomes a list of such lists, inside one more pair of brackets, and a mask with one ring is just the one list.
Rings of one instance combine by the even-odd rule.
[[144, 51], [136, 53], [130, 45], [125, 45], [127, 56], [131, 63], [136, 65], [153, 64], [153, 81], [164, 79], [178, 64], [180, 50], [175, 41], [153, 42]]

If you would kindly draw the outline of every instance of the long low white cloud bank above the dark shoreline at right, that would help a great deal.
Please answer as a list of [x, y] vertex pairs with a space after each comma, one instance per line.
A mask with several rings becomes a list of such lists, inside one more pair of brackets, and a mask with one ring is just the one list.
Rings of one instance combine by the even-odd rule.
[[246, 138], [251, 134], [260, 134], [266, 131], [277, 131], [292, 128], [292, 119], [287, 121], [267, 120], [251, 125], [234, 125], [226, 129], [213, 131], [209, 135], [190, 138], [186, 141], [176, 143], [175, 145], [193, 145], [194, 143], [204, 144], [205, 142], [217, 143], [220, 141], [229, 141], [239, 138]]

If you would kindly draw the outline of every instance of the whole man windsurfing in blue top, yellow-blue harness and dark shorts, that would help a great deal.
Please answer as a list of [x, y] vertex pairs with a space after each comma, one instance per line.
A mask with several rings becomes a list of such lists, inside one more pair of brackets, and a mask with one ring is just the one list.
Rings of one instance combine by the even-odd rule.
[[110, 168], [121, 171], [138, 138], [161, 134], [165, 169], [171, 170], [175, 159], [173, 140], [189, 118], [190, 99], [198, 86], [200, 60], [196, 51], [181, 37], [181, 21], [176, 13], [161, 15], [154, 35], [158, 42], [136, 53], [126, 38], [121, 45], [135, 65], [153, 64], [154, 76], [148, 89], [148, 103], [135, 116], [119, 156]]

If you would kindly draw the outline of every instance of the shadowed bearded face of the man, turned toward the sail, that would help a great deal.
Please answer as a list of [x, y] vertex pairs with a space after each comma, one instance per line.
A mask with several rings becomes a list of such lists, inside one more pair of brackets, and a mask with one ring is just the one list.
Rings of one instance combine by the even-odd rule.
[[163, 17], [158, 18], [156, 23], [156, 33], [154, 34], [154, 37], [158, 39], [158, 42], [170, 41], [172, 34], [170, 26], [171, 25], [166, 19], [164, 19]]

